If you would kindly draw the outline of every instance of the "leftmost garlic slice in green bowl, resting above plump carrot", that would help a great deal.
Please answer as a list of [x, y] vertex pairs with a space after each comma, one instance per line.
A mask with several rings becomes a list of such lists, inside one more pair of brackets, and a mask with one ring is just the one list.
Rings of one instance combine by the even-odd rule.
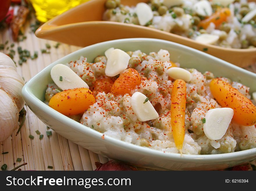
[[[88, 88], [85, 83], [70, 67], [57, 64], [51, 69], [51, 79], [61, 90]], [[61, 81], [62, 80], [62, 81]]]

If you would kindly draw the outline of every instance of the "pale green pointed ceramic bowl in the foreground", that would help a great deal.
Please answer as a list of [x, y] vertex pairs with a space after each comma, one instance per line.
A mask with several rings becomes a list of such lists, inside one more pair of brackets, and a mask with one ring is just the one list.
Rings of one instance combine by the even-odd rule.
[[43, 103], [46, 86], [53, 82], [50, 71], [54, 65], [77, 60], [80, 56], [87, 57], [88, 62], [93, 62], [96, 56], [104, 55], [104, 51], [111, 47], [124, 51], [140, 49], [145, 53], [166, 49], [170, 52], [171, 60], [179, 62], [181, 67], [195, 68], [200, 72], [210, 71], [215, 76], [225, 76], [250, 87], [251, 92], [256, 91], [256, 74], [245, 69], [207, 53], [173, 42], [150, 38], [132, 38], [107, 41], [85, 47], [64, 56], [43, 69], [22, 89], [22, 96], [29, 108], [47, 126], [74, 143], [97, 154], [137, 166], [170, 170], [215, 170], [239, 165], [256, 158], [256, 148], [225, 154], [183, 154], [181, 156], [177, 153], [163, 153], [162, 151], [137, 146], [108, 136], [102, 139], [102, 133], [83, 126]]

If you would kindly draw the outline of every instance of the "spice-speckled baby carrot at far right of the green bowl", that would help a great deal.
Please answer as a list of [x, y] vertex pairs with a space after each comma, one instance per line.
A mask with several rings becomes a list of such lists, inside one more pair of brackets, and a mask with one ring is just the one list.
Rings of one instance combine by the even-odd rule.
[[215, 78], [210, 83], [210, 90], [222, 107], [229, 107], [234, 110], [233, 119], [237, 123], [244, 126], [256, 124], [256, 106], [236, 88], [219, 78]]

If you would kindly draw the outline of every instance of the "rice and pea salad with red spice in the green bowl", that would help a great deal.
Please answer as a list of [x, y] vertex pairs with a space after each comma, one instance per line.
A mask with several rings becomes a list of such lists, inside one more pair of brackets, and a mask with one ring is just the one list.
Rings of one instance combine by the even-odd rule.
[[[180, 68], [179, 63], [172, 62], [170, 53], [163, 49], [147, 55], [140, 50], [124, 52], [111, 48], [105, 55], [96, 57], [93, 63], [81, 56], [79, 60], [58, 64], [56, 69], [53, 67], [51, 77], [54, 83], [47, 85], [45, 103], [80, 122], [85, 128], [103, 133], [102, 138], [110, 136], [163, 152], [218, 154], [256, 147], [255, 121], [254, 124], [239, 124], [239, 120], [232, 119], [233, 114], [225, 118], [232, 109], [222, 108], [214, 99], [212, 91], [215, 90], [211, 89], [211, 82], [220, 80], [238, 90], [243, 99], [248, 101], [246, 104], [255, 104], [255, 101], [251, 102], [249, 88], [245, 85], [224, 77], [215, 78], [211, 72], [202, 74], [196, 69]], [[114, 67], [111, 61], [117, 65]], [[78, 89], [72, 89], [75, 79], [69, 76], [73, 74], [79, 77], [75, 82]], [[184, 116], [180, 115], [184, 123], [175, 127], [183, 133], [179, 149], [177, 135], [174, 135], [177, 129], [174, 129], [171, 118], [175, 104], [178, 104], [178, 101], [173, 101], [175, 82], [178, 80], [186, 86], [183, 95], [177, 94], [178, 97], [184, 97], [185, 104]], [[177, 88], [182, 89], [180, 85]], [[81, 97], [85, 95], [85, 98], [81, 99], [79, 94], [84, 90]], [[77, 103], [78, 100], [85, 101]], [[81, 108], [74, 115], [74, 110], [83, 106], [86, 109]], [[253, 104], [251, 107], [255, 108]], [[209, 111], [216, 109], [223, 109], [218, 111], [221, 117], [215, 120], [210, 116], [208, 119]], [[215, 135], [216, 132], [208, 132], [208, 135], [206, 130], [207, 126], [217, 127], [218, 123], [221, 124], [218, 132], [223, 134], [214, 140], [212, 136], [219, 135]]]

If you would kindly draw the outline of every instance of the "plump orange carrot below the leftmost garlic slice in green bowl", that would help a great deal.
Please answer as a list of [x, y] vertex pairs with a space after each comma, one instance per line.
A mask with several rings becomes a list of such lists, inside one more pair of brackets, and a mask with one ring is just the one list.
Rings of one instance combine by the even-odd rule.
[[91, 90], [76, 88], [55, 94], [50, 99], [49, 106], [63, 115], [77, 115], [83, 113], [95, 102]]

